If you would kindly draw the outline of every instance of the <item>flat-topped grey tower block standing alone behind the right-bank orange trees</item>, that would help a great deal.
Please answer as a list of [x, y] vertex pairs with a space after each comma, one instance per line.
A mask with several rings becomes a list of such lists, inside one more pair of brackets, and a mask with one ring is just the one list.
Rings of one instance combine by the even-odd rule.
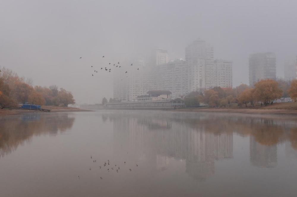
[[276, 79], [274, 53], [256, 53], [249, 56], [249, 85], [263, 79]]

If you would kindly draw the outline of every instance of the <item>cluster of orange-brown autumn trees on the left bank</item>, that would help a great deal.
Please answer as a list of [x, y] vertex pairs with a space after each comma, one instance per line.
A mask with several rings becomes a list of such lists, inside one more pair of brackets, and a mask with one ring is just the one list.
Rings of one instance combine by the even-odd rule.
[[58, 86], [33, 86], [32, 80], [25, 80], [7, 68], [0, 70], [0, 109], [21, 104], [68, 106], [75, 104], [71, 92]]

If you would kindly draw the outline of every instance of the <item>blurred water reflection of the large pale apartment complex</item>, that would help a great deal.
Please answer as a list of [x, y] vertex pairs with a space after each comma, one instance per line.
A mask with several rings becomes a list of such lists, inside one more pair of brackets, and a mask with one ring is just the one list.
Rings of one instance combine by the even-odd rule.
[[110, 115], [116, 154], [133, 150], [140, 158], [145, 153], [147, 162], [155, 161], [150, 165], [158, 171], [166, 170], [170, 166], [168, 157], [173, 157], [185, 160], [189, 176], [206, 180], [214, 174], [216, 160], [233, 158], [233, 133], [206, 130], [205, 123], [193, 127], [168, 116]]

